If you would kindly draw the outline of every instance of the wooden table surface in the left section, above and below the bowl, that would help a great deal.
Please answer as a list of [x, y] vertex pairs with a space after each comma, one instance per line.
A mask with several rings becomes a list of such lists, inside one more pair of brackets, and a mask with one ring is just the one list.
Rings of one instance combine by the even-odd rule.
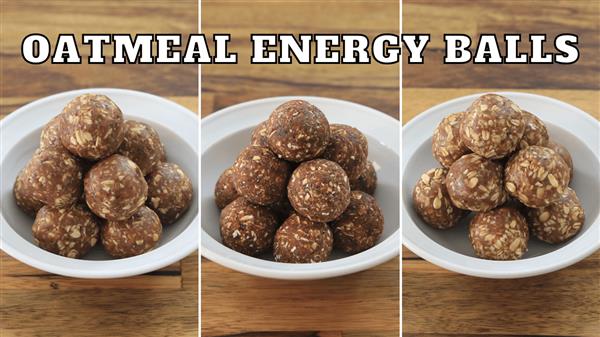
[[[146, 91], [198, 111], [196, 65], [33, 66], [20, 55], [21, 40], [31, 32], [51, 41], [59, 32], [193, 33], [196, 0], [1, 1], [1, 116], [35, 99], [86, 87]], [[2, 337], [197, 335], [198, 254], [145, 275], [84, 280], [50, 275], [0, 252]]]

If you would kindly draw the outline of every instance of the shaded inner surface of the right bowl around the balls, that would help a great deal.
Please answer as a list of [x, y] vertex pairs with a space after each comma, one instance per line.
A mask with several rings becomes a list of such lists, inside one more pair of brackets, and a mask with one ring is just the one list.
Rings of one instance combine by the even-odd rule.
[[[576, 191], [583, 204], [586, 221], [576, 236], [561, 244], [551, 245], [532, 237], [528, 245], [529, 250], [525, 253], [523, 259], [544, 255], [568, 245], [576, 237], [590, 230], [592, 223], [590, 220], [597, 218], [600, 211], [597, 194], [597, 191], [600, 190], [600, 181], [597, 179], [600, 168], [597, 160], [590, 160], [594, 158], [593, 152], [569, 132], [549, 122], [545, 124], [551, 139], [564, 145], [573, 157], [574, 175], [570, 187]], [[433, 167], [440, 167], [440, 164], [433, 159], [431, 154], [430, 137], [417, 148], [406, 164], [402, 181], [402, 186], [404, 186], [402, 193], [404, 200], [406, 200], [405, 207], [408, 214], [421, 231], [441, 246], [474, 257], [475, 254], [467, 236], [468, 223], [472, 216], [463, 219], [456, 227], [439, 230], [425, 224], [412, 207], [412, 190], [416, 182], [423, 172]]]

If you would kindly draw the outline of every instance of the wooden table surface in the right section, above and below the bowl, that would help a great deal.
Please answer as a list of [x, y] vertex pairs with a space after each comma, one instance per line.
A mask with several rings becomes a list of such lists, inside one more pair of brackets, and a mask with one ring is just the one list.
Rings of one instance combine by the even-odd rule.
[[[600, 2], [404, 1], [404, 32], [431, 32], [424, 65], [403, 67], [403, 122], [484, 91], [537, 93], [600, 116]], [[443, 65], [443, 33], [577, 33], [581, 58], [561, 65]], [[473, 38], [473, 40], [475, 40]], [[528, 46], [525, 50], [529, 50]], [[459, 275], [403, 251], [406, 336], [599, 336], [600, 252], [519, 280]]]

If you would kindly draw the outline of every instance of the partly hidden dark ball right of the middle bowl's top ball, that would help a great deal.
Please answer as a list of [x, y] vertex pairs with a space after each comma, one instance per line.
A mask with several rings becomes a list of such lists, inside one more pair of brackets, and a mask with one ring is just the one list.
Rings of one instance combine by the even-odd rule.
[[332, 124], [329, 145], [323, 152], [323, 158], [339, 164], [348, 179], [355, 180], [367, 168], [367, 138], [349, 125]]

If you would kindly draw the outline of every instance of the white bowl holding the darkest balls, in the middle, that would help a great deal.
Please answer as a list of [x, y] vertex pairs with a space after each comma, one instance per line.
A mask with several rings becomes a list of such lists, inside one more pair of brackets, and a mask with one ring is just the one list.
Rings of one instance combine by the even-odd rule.
[[[266, 120], [275, 107], [291, 99], [304, 99], [320, 108], [331, 123], [360, 129], [369, 140], [369, 159], [379, 167], [375, 198], [385, 225], [375, 247], [345, 256], [335, 252], [327, 262], [289, 264], [246, 256], [225, 247], [219, 233], [219, 210], [213, 192], [219, 175], [233, 164], [238, 153], [250, 144], [252, 129]], [[203, 118], [202, 135], [202, 231], [201, 253], [223, 266], [244, 273], [279, 279], [319, 279], [358, 272], [399, 254], [399, 122], [363, 105], [321, 97], [274, 97], [231, 106]]]

